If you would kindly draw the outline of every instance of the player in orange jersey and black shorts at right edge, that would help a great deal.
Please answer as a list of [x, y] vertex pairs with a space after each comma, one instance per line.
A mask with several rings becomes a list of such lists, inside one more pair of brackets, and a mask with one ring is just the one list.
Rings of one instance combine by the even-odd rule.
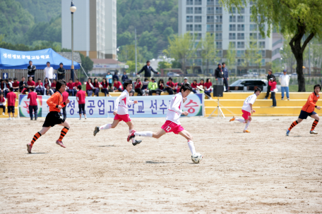
[[320, 118], [318, 117], [318, 114], [316, 112], [314, 112], [314, 108], [321, 110], [321, 106], [316, 106], [316, 102], [320, 98], [320, 95], [318, 95], [318, 93], [320, 93], [320, 91], [321, 91], [321, 85], [320, 84], [314, 85], [314, 92], [312, 94], [310, 94], [305, 105], [302, 107], [301, 113], [299, 113], [299, 118], [297, 120], [295, 120], [292, 123], [292, 125], [286, 130], [287, 136], [290, 135], [292, 128], [294, 126], [296, 126], [297, 124], [299, 124], [300, 122], [302, 122], [302, 120], [306, 120], [307, 116], [310, 116], [311, 118], [315, 119], [312, 124], [310, 134], [318, 134], [318, 132], [316, 132], [316, 130], [314, 130], [314, 129], [315, 129], [316, 125], [318, 125], [318, 120]]

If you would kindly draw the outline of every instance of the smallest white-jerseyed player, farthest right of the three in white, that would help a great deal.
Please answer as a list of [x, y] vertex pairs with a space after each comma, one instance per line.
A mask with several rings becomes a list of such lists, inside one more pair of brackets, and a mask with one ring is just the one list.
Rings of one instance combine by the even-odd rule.
[[232, 119], [229, 120], [229, 122], [232, 122], [234, 120], [238, 120], [239, 122], [246, 123], [245, 128], [244, 128], [244, 132], [251, 132], [251, 131], [247, 130], [247, 128], [249, 127], [249, 124], [251, 123], [251, 115], [253, 113], [255, 113], [255, 110], [253, 109], [253, 105], [254, 105], [256, 98], [259, 94], [261, 94], [261, 89], [257, 88], [257, 89], [255, 89], [254, 94], [251, 94], [251, 96], [249, 96], [245, 99], [244, 105], [241, 108], [244, 119], [238, 119], [238, 118], [233, 117]]

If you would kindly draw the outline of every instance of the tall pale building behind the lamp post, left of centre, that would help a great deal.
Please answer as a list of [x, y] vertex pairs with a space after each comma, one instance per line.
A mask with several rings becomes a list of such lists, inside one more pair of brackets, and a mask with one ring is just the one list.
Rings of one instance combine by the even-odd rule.
[[[117, 58], [117, 0], [73, 1], [73, 48], [90, 58]], [[71, 1], [61, 0], [61, 46], [71, 49]]]

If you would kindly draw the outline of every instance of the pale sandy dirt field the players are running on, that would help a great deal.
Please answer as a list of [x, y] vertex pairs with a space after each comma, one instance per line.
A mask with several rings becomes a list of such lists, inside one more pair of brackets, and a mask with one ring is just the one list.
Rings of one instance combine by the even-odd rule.
[[[229, 118], [181, 118], [204, 158], [193, 164], [186, 139], [166, 134], [132, 146], [112, 119], [68, 119], [66, 149], [55, 126], [26, 151], [44, 118], [0, 120], [0, 213], [322, 213], [322, 123], [254, 118], [249, 130]], [[133, 118], [157, 131], [164, 118]]]

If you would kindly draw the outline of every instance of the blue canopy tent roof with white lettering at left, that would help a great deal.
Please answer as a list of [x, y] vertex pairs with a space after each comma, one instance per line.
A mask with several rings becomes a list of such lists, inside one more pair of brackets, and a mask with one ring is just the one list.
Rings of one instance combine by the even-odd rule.
[[[64, 68], [71, 69], [71, 61], [60, 56], [53, 49], [43, 49], [39, 51], [12, 51], [0, 49], [0, 69], [27, 69], [29, 61], [36, 65], [37, 69], [44, 69], [47, 62], [54, 69], [59, 68], [59, 63], [64, 64]], [[74, 61], [74, 69], [79, 69], [80, 65]]]

